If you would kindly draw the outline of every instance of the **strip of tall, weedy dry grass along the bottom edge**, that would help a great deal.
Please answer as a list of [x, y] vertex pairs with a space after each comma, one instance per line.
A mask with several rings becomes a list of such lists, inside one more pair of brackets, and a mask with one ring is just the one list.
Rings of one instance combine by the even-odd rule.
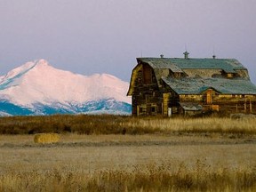
[[213, 169], [197, 160], [194, 167], [172, 162], [134, 165], [132, 171], [52, 169], [0, 174], [0, 191], [255, 191], [256, 164], [246, 169]]

